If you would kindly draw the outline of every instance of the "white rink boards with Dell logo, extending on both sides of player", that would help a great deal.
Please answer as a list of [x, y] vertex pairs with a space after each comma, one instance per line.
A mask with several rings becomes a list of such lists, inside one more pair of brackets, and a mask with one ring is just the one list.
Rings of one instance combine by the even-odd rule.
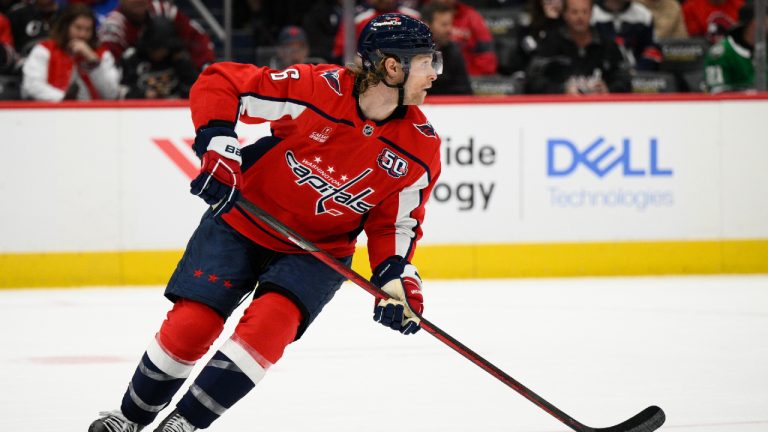
[[[444, 168], [423, 244], [768, 237], [768, 101], [424, 111]], [[204, 209], [157, 144], [197, 164], [186, 108], [0, 109], [0, 129], [0, 252], [181, 249]]]

